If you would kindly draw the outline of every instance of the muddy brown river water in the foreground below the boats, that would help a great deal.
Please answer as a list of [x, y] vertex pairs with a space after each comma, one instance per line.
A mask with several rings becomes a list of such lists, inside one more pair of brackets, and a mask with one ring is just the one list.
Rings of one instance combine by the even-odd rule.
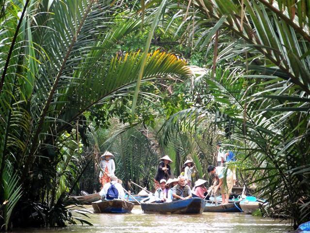
[[[92, 211], [92, 206], [87, 206]], [[132, 214], [89, 214], [94, 226], [73, 225], [58, 229], [24, 229], [33, 233], [283, 233], [289, 228], [284, 221], [253, 217], [242, 213], [203, 213], [202, 215], [143, 214], [135, 206]]]

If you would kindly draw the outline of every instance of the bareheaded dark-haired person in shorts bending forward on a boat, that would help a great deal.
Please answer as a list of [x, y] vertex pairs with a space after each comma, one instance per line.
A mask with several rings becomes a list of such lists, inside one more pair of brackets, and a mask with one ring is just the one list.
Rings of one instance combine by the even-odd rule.
[[[224, 166], [212, 166], [209, 165], [208, 173], [215, 175], [215, 181], [218, 181], [218, 185], [215, 186], [214, 193], [216, 193], [217, 189], [221, 187], [221, 194], [222, 194], [222, 204], [228, 204], [229, 194], [232, 190], [232, 172], [229, 168], [225, 168]], [[226, 177], [225, 177], [226, 172]], [[223, 180], [226, 179], [226, 182]]]

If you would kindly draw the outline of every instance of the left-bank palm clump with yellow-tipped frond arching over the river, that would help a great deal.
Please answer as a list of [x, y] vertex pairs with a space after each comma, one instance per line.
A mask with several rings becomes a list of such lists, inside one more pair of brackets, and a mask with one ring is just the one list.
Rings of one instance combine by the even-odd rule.
[[[0, 80], [0, 179], [3, 183], [7, 162], [16, 170], [16, 176], [10, 174], [20, 179], [10, 183], [17, 193], [5, 194], [1, 186], [0, 201], [12, 199], [9, 211], [16, 202], [20, 206], [33, 201], [24, 205], [23, 211], [13, 212], [16, 225], [74, 223], [66, 195], [77, 189], [92, 160], [87, 153], [84, 112], [89, 111], [88, 118], [108, 121], [110, 107], [106, 106], [133, 93], [142, 56], [139, 51], [115, 54], [115, 45], [136, 33], [141, 19], [131, 17], [128, 10], [114, 3], [7, 0], [6, 11], [1, 11], [0, 67], [4, 68]], [[124, 12], [128, 20], [118, 23], [118, 14]], [[152, 12], [146, 14], [144, 24], [148, 25], [152, 17]], [[173, 54], [146, 52], [145, 62], [142, 84], [192, 75], [186, 63]], [[148, 101], [145, 97], [147, 92], [142, 98]], [[129, 101], [121, 106], [125, 109], [128, 105]], [[94, 106], [104, 114], [92, 116]], [[114, 105], [114, 114], [123, 123], [141, 121], [138, 115], [129, 121], [126, 111], [118, 107]], [[152, 118], [146, 115], [143, 120], [151, 122]], [[19, 185], [23, 190], [20, 200]], [[4, 213], [3, 226], [8, 226], [10, 213]], [[19, 218], [19, 214], [25, 217]], [[32, 215], [36, 218], [30, 221], [27, 217]]]

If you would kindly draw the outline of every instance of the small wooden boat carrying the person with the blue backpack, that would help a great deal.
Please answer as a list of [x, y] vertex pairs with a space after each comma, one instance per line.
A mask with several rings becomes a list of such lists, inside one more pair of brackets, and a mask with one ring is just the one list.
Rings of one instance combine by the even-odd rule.
[[92, 202], [92, 206], [95, 213], [125, 214], [131, 213], [134, 204], [126, 200], [114, 199], [104, 201], [98, 200]]

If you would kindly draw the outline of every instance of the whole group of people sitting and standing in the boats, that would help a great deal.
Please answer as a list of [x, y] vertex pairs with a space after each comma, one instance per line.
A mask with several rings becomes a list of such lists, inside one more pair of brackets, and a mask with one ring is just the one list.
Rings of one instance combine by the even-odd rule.
[[[209, 165], [207, 171], [210, 175], [214, 175], [213, 185], [209, 189], [213, 192], [220, 188], [222, 194], [222, 204], [227, 204], [229, 194], [233, 185], [236, 182], [235, 172], [224, 167], [228, 161], [235, 161], [235, 156], [232, 151], [224, 153], [221, 150], [221, 144], [217, 147], [217, 166]], [[100, 196], [102, 200], [113, 200], [114, 198], [122, 199], [125, 197], [124, 188], [121, 181], [114, 175], [115, 164], [114, 155], [106, 151], [100, 156], [100, 183], [102, 189]], [[173, 161], [168, 155], [160, 158], [160, 163], [157, 167], [157, 172], [154, 178], [155, 193], [151, 201], [156, 202], [171, 202], [176, 200], [186, 200], [192, 197], [202, 199], [208, 198], [208, 189], [205, 186], [206, 180], [198, 179], [195, 183], [193, 178], [195, 174], [195, 164], [192, 160], [187, 159], [181, 169], [181, 174], [178, 178], [174, 178], [171, 173], [171, 164]], [[226, 181], [224, 181], [226, 179]]]

